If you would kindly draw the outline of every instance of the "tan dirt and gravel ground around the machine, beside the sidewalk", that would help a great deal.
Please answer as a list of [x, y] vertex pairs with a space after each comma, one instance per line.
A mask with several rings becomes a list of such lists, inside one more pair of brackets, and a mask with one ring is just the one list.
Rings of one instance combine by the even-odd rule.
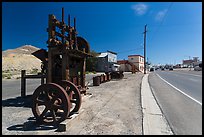
[[65, 132], [56, 128], [34, 126], [23, 128], [33, 119], [29, 97], [27, 105], [2, 106], [3, 135], [141, 135], [141, 82], [144, 74], [125, 73], [121, 80], [93, 86], [82, 96], [79, 114], [67, 119]]

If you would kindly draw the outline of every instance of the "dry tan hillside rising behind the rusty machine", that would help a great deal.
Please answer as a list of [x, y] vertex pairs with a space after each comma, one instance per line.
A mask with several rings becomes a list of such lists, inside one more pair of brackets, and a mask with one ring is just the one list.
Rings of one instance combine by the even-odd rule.
[[40, 71], [41, 61], [31, 53], [39, 48], [31, 45], [24, 45], [16, 49], [9, 49], [2, 52], [2, 78], [15, 78], [20, 76], [21, 70], [28, 73]]

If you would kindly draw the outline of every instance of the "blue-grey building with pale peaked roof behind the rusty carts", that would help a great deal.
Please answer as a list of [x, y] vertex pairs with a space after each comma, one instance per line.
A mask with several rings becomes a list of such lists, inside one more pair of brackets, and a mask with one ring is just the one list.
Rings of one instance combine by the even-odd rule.
[[99, 54], [96, 63], [97, 72], [119, 71], [120, 65], [117, 64], [117, 53], [107, 50], [107, 52]]

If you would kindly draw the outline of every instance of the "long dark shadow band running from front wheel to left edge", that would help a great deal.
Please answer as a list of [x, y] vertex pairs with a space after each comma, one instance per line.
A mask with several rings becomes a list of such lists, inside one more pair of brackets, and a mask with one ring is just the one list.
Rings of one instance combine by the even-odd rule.
[[2, 100], [2, 107], [32, 107], [32, 95]]

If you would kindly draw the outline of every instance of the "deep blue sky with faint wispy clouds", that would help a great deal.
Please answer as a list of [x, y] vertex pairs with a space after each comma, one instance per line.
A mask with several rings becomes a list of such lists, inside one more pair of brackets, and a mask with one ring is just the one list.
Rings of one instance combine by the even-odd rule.
[[78, 36], [91, 50], [144, 55], [152, 64], [202, 60], [202, 2], [2, 2], [2, 50], [24, 44], [47, 49], [48, 14], [76, 17]]

